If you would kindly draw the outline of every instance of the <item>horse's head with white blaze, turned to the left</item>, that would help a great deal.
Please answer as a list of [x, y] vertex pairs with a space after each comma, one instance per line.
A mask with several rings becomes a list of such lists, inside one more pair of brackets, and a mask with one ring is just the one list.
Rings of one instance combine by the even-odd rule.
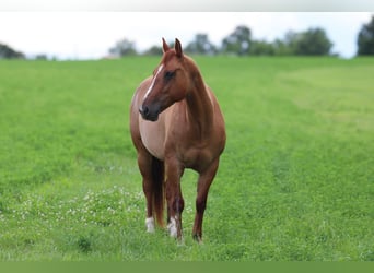
[[156, 121], [159, 115], [188, 93], [190, 81], [180, 41], [175, 39], [170, 48], [163, 38], [163, 56], [153, 71], [152, 81], [145, 92], [139, 112], [145, 120]]

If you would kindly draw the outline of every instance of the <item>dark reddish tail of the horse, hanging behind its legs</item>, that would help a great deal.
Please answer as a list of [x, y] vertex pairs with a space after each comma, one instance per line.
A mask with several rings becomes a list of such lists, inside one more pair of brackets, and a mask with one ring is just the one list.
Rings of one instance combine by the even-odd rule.
[[153, 178], [153, 215], [159, 225], [164, 227], [164, 204], [165, 204], [165, 167], [164, 163], [156, 157], [152, 157]]

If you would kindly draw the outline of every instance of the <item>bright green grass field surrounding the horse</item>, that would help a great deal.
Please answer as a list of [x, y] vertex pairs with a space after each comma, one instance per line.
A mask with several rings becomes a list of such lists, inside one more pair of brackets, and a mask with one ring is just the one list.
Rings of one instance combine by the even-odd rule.
[[374, 59], [196, 58], [226, 120], [204, 242], [144, 232], [128, 129], [159, 58], [0, 61], [0, 260], [374, 260]]

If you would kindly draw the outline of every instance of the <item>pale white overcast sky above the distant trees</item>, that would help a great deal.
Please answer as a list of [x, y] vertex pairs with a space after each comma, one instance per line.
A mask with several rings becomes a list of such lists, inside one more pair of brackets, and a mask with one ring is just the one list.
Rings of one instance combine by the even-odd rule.
[[332, 52], [351, 58], [357, 36], [371, 21], [370, 12], [0, 12], [0, 43], [27, 57], [46, 54], [58, 59], [100, 59], [116, 41], [127, 38], [139, 51], [178, 38], [183, 46], [196, 34], [208, 34], [217, 46], [237, 25], [253, 38], [272, 41], [288, 31], [322, 27]]

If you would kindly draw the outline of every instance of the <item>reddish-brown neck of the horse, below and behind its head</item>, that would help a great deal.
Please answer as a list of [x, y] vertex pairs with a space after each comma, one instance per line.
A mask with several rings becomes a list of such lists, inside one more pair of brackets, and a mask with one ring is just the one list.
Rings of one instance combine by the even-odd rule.
[[192, 87], [186, 96], [188, 119], [199, 134], [204, 138], [213, 126], [213, 106], [198, 69], [191, 75]]

